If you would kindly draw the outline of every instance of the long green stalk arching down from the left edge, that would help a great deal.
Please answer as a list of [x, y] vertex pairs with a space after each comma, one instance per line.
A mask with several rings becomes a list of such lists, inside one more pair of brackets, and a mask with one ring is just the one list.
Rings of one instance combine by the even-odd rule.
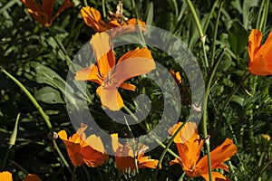
[[[42, 107], [38, 104], [38, 102], [34, 99], [33, 95], [24, 87], [24, 85], [15, 79], [14, 76], [12, 76], [11, 74], [9, 74], [7, 71], [5, 71], [5, 69], [3, 69], [1, 67], [1, 71], [5, 73], [5, 75], [7, 75], [12, 81], [14, 81], [21, 90], [24, 91], [25, 95], [32, 101], [32, 103], [34, 104], [34, 107], [39, 111], [39, 113], [41, 114], [42, 118], [44, 119], [45, 124], [47, 125], [48, 129], [53, 132], [53, 127], [52, 124], [49, 120], [49, 117], [45, 114], [44, 110], [42, 109]], [[67, 163], [67, 161], [65, 160], [65, 158], [63, 157], [62, 152], [60, 151], [60, 149], [58, 148], [57, 144], [55, 143], [55, 140], [53, 140], [53, 145], [55, 147], [55, 149], [57, 150], [57, 153], [59, 154], [59, 156], [61, 157], [63, 164], [65, 165], [65, 167], [68, 168], [68, 170], [72, 173], [71, 168], [69, 167], [69, 164]]]

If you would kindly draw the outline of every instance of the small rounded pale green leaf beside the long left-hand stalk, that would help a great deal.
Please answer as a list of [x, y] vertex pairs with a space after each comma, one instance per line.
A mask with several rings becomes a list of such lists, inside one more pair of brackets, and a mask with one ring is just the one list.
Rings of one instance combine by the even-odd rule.
[[37, 90], [34, 94], [34, 97], [36, 100], [43, 101], [47, 104], [65, 103], [60, 92], [49, 86]]

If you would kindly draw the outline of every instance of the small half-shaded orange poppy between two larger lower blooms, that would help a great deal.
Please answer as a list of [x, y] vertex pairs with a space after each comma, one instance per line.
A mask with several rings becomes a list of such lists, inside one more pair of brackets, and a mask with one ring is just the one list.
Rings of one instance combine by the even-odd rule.
[[129, 143], [122, 146], [118, 142], [118, 134], [112, 134], [112, 149], [115, 155], [115, 163], [119, 172], [124, 173], [126, 170], [135, 169], [134, 155], [137, 156], [138, 168], [156, 168], [159, 160], [150, 159], [149, 157], [143, 157], [144, 152], [148, 149], [145, 145], [138, 144], [136, 153], [133, 151]]

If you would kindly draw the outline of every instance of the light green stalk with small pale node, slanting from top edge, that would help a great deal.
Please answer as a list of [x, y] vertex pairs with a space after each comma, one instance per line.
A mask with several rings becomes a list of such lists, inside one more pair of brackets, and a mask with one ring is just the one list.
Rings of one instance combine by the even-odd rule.
[[190, 0], [186, 0], [186, 3], [189, 6], [190, 13], [193, 16], [195, 24], [197, 25], [197, 28], [199, 31], [200, 41], [202, 43], [202, 49], [203, 49], [203, 53], [204, 53], [205, 66], [206, 66], [206, 68], [209, 68], [209, 63], [208, 63], [208, 58], [207, 58], [207, 53], [206, 53], [206, 48], [205, 48], [206, 36], [204, 35], [204, 33], [202, 31], [201, 24], [199, 22], [199, 17], [198, 17], [198, 14], [196, 13], [194, 6], [191, 4]]

